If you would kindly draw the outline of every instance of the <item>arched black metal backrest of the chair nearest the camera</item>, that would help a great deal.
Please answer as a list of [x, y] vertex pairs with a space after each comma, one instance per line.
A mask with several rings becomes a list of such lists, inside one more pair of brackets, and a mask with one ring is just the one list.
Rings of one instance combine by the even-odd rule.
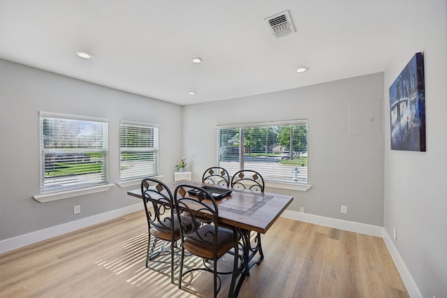
[[[196, 195], [189, 195], [189, 191], [198, 191]], [[212, 198], [212, 195], [203, 188], [197, 186], [190, 186], [182, 184], [175, 188], [174, 192], [175, 209], [180, 223], [180, 232], [182, 234], [182, 241], [192, 241], [201, 246], [213, 248], [214, 257], [217, 255], [217, 236], [219, 230], [219, 210], [217, 203]], [[182, 213], [186, 216], [180, 216]], [[202, 227], [193, 227], [187, 229], [186, 225], [182, 223], [184, 218], [191, 218], [193, 221], [199, 220], [203, 225], [210, 225], [212, 232], [200, 233], [203, 231]]]

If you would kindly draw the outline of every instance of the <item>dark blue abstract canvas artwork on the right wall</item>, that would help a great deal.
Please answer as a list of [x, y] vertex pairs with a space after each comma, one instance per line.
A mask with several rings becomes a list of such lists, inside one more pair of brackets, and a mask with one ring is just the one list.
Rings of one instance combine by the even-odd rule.
[[416, 53], [390, 87], [391, 149], [426, 151], [422, 53]]

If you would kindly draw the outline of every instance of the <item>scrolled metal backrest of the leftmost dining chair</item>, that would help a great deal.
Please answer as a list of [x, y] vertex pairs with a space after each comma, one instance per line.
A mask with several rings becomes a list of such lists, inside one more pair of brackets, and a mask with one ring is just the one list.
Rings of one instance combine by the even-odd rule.
[[[174, 200], [173, 193], [163, 182], [147, 178], [141, 181], [142, 202], [145, 204], [147, 224], [161, 230], [173, 229]], [[152, 205], [152, 208], [150, 208]]]

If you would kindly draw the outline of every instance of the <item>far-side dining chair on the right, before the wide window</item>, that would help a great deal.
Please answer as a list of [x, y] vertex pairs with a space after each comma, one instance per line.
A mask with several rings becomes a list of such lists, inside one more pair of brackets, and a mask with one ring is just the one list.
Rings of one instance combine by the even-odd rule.
[[[231, 187], [232, 188], [242, 188], [249, 189], [250, 191], [258, 191], [264, 193], [265, 183], [264, 179], [259, 172], [254, 170], [240, 170], [235, 172], [233, 177], [231, 178]], [[250, 275], [250, 268], [255, 264], [261, 264], [261, 261], [264, 259], [263, 246], [261, 244], [261, 233], [256, 232], [256, 237], [254, 238], [255, 246], [251, 245], [251, 230], [242, 230], [242, 234], [244, 234], [244, 238], [247, 239], [249, 244], [249, 250], [254, 253], [258, 251], [260, 258], [258, 261], [254, 262], [248, 269], [247, 275]]]

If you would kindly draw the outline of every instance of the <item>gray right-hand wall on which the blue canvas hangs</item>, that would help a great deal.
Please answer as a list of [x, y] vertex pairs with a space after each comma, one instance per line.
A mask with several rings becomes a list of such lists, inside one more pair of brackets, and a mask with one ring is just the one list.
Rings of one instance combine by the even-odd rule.
[[[421, 1], [422, 2], [422, 1]], [[447, 297], [447, 6], [423, 2], [385, 71], [385, 228], [423, 297]], [[425, 63], [427, 152], [391, 151], [388, 88], [416, 52]]]

